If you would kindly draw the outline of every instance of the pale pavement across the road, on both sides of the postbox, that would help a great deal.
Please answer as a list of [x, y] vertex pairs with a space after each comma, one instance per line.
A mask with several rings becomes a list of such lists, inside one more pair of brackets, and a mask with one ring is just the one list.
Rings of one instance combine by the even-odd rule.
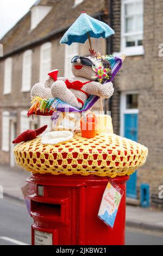
[[[28, 176], [30, 173], [19, 167], [11, 168], [0, 165], [0, 186], [3, 187], [4, 196], [23, 200], [21, 187], [26, 184]], [[131, 228], [146, 228], [163, 232], [163, 210], [127, 205], [126, 225]]]

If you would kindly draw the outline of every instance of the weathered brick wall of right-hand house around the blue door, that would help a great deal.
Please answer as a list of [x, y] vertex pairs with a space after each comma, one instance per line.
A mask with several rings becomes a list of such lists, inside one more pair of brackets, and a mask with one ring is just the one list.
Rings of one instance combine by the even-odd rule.
[[[120, 51], [120, 2], [114, 1], [114, 51]], [[112, 97], [114, 131], [120, 124], [120, 92], [139, 92], [139, 142], [146, 145], [149, 155], [146, 164], [137, 172], [137, 190], [141, 183], [149, 183], [152, 203], [163, 205], [158, 198], [158, 187], [163, 185], [163, 57], [158, 56], [158, 45], [163, 43], [163, 2], [144, 0], [143, 56], [127, 57], [115, 79], [116, 93]]]

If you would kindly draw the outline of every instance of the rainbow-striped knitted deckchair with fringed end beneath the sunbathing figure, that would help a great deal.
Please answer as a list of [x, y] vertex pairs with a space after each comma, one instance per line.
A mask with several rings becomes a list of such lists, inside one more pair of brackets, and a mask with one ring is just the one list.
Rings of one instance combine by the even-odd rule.
[[[115, 57], [115, 56], [107, 56], [107, 58], [110, 62], [111, 66], [111, 78], [107, 82], [110, 82], [114, 80], [114, 77], [116, 76], [117, 72], [120, 70], [122, 66], [123, 58]], [[59, 112], [78, 112], [82, 113], [85, 111], [88, 111], [90, 108], [93, 107], [93, 105], [96, 103], [96, 101], [99, 99], [98, 96], [90, 95], [87, 101], [85, 102], [84, 106], [80, 109], [71, 106], [70, 104], [61, 101], [59, 99], [41, 99], [40, 97], [34, 97], [33, 98], [33, 105], [30, 107], [27, 115], [28, 117], [30, 115], [52, 115], [54, 111]]]

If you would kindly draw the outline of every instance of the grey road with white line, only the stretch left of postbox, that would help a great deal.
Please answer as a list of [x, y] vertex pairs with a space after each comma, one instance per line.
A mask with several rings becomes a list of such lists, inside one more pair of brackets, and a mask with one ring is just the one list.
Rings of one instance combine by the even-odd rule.
[[0, 199], [0, 208], [0, 246], [30, 245], [33, 219], [23, 201], [4, 196]]

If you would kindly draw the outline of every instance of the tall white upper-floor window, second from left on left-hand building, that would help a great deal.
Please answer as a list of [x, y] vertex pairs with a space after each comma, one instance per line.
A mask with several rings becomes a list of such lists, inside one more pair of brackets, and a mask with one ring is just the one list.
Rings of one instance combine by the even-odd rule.
[[22, 92], [29, 92], [32, 79], [32, 50], [23, 53]]

